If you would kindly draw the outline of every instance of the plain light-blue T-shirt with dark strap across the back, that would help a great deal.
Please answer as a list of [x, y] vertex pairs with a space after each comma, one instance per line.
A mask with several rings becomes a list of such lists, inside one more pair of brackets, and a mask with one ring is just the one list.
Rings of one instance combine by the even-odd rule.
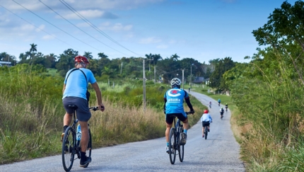
[[[65, 97], [78, 97], [78, 98], [84, 98], [86, 99], [86, 90], [88, 86], [88, 82], [90, 84], [94, 84], [96, 82], [96, 79], [89, 69], [86, 68], [79, 68], [81, 71], [83, 71], [86, 74], [86, 77], [83, 75], [83, 73], [79, 70], [72, 71], [73, 69], [69, 70], [66, 73], [66, 76], [69, 75], [68, 80], [66, 81], [66, 78], [64, 79], [64, 84], [66, 84], [66, 88], [64, 90], [64, 96]], [[86, 81], [86, 78], [88, 81]]]

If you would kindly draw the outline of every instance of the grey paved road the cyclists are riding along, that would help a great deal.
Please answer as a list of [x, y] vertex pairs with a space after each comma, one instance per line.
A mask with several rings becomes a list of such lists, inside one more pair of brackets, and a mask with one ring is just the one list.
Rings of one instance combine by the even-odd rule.
[[[208, 139], [201, 137], [201, 122], [188, 130], [182, 163], [177, 155], [175, 164], [170, 164], [163, 137], [93, 149], [93, 161], [88, 168], [79, 167], [77, 159], [71, 171], [245, 171], [239, 159], [240, 147], [230, 130], [230, 112], [225, 113], [221, 120], [216, 101], [200, 93], [191, 91], [191, 94], [204, 105], [213, 101], [210, 114], [214, 122], [211, 123]], [[2, 165], [0, 171], [64, 171], [61, 159], [58, 155]]]

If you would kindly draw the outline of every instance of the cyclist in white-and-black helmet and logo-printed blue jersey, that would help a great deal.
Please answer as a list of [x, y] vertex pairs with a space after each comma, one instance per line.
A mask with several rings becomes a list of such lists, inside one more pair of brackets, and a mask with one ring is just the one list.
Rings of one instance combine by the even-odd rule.
[[167, 141], [167, 153], [169, 153], [169, 133], [174, 118], [172, 115], [175, 115], [183, 123], [184, 132], [182, 133], [182, 139], [180, 139], [180, 144], [185, 145], [187, 142], [187, 130], [189, 128], [189, 124], [187, 114], [185, 113], [184, 106], [182, 105], [184, 99], [188, 107], [190, 108], [190, 113], [194, 113], [187, 91], [180, 89], [180, 79], [172, 79], [170, 84], [171, 88], [165, 92], [165, 104], [163, 106], [163, 110], [165, 113], [165, 122], [167, 125], [167, 128], [165, 130], [165, 139]]

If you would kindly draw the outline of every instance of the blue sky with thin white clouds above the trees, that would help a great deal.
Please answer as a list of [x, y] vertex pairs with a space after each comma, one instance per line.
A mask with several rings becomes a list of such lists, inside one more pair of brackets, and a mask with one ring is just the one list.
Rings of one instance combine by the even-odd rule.
[[206, 64], [225, 57], [249, 62], [244, 57], [259, 47], [252, 30], [267, 23], [281, 4], [283, 0], [0, 0], [0, 52], [18, 59], [35, 43], [44, 55], [59, 56], [71, 48], [80, 55], [92, 52], [94, 58], [99, 52], [110, 59], [151, 53]]

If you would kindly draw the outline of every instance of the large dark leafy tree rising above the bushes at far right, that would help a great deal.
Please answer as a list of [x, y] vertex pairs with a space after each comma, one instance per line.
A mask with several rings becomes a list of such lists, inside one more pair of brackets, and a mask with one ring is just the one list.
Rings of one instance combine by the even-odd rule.
[[293, 65], [296, 74], [304, 85], [304, 2], [296, 1], [294, 6], [284, 1], [281, 8], [276, 8], [269, 16], [269, 21], [262, 28], [253, 30], [259, 45], [271, 45], [276, 53], [283, 55], [286, 65]]

